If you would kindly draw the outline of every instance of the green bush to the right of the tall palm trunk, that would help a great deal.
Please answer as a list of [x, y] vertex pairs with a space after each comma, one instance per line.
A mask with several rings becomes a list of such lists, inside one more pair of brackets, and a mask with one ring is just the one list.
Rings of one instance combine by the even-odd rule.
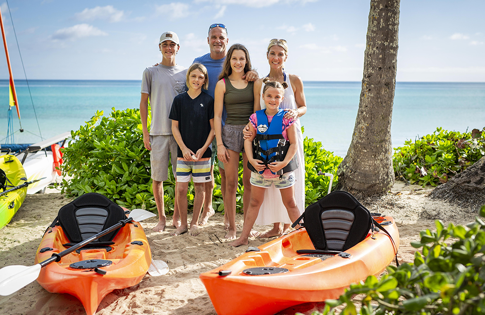
[[415, 142], [394, 149], [392, 164], [397, 179], [409, 184], [436, 186], [485, 156], [485, 128], [460, 133], [437, 128]]

